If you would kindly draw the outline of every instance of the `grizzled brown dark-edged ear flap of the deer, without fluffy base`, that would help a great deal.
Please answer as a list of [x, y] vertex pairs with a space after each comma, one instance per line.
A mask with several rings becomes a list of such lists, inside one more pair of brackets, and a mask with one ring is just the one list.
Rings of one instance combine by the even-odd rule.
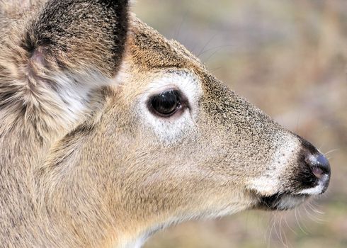
[[109, 77], [123, 56], [127, 0], [50, 0], [28, 26], [23, 47], [52, 68]]

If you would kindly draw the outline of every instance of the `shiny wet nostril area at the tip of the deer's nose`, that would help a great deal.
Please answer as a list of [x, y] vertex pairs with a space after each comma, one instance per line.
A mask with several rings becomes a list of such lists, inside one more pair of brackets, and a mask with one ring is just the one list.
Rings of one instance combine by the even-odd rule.
[[323, 154], [307, 154], [305, 162], [318, 179], [322, 179], [324, 175], [330, 176], [330, 164]]

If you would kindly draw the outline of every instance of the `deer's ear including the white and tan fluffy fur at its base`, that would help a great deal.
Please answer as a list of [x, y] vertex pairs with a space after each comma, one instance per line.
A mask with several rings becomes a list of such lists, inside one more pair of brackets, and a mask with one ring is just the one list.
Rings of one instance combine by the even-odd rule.
[[1, 35], [0, 115], [21, 115], [16, 120], [49, 133], [76, 123], [91, 93], [113, 83], [128, 1], [49, 0], [30, 18]]

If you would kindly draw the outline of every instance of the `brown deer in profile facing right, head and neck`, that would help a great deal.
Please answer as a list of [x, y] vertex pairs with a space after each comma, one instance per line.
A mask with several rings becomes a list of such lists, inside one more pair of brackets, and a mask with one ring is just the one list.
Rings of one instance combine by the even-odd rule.
[[129, 1], [0, 3], [2, 247], [141, 247], [170, 225], [326, 191], [322, 152]]

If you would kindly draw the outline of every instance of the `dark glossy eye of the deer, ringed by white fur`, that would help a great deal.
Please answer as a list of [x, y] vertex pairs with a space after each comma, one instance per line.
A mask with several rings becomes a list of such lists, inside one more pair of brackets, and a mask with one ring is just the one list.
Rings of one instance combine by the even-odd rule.
[[174, 115], [182, 108], [181, 92], [176, 89], [162, 91], [149, 99], [149, 107], [152, 113], [161, 117]]

